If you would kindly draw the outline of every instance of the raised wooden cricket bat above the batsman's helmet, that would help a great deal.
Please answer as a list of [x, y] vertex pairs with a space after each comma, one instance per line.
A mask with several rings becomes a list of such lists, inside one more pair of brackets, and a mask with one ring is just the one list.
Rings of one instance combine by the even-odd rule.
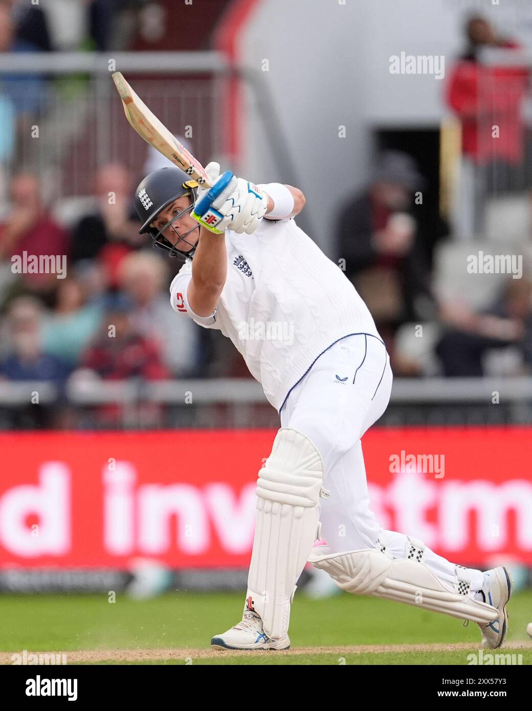
[[191, 155], [181, 145], [176, 137], [161, 124], [159, 119], [151, 113], [146, 104], [132, 90], [127, 81], [122, 76], [122, 73], [115, 72], [112, 75], [112, 80], [115, 82], [115, 87], [122, 99], [124, 114], [129, 121], [129, 124], [135, 129], [140, 137], [144, 139], [150, 146], [154, 146], [159, 153], [162, 153], [178, 168], [194, 180], [198, 181], [201, 186], [211, 188], [208, 175], [199, 161]]

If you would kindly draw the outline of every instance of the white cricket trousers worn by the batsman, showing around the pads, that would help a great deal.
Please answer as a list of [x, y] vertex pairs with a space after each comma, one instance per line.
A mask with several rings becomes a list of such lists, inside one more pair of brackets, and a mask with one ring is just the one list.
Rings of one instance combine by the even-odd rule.
[[[319, 520], [321, 538], [333, 553], [375, 547], [377, 540], [394, 558], [404, 558], [408, 538], [383, 530], [370, 508], [361, 437], [383, 415], [392, 388], [390, 358], [376, 336], [357, 333], [322, 353], [292, 389], [280, 412], [281, 427], [308, 437], [324, 460]], [[415, 536], [415, 531], [409, 531]], [[454, 563], [425, 548], [425, 564], [445, 584], [456, 579]], [[472, 592], [483, 574], [472, 572]]]

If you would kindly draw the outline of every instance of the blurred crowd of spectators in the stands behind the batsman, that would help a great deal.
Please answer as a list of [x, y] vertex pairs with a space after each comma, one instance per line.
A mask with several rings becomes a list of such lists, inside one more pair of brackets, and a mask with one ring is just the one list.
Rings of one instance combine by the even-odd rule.
[[[208, 21], [197, 23], [181, 3], [48, 0], [33, 6], [3, 0], [1, 59], [15, 62], [17, 54], [55, 51], [112, 57], [123, 51], [208, 50], [228, 5], [212, 1], [209, 14], [204, 13]], [[179, 40], [172, 31], [177, 27]], [[462, 53], [447, 58], [440, 82], [449, 120], [442, 124], [440, 153], [435, 161], [431, 158], [430, 170], [419, 151], [383, 134], [363, 185], [337, 201], [337, 220], [329, 223], [326, 242], [302, 216], [302, 227], [366, 300], [398, 379], [531, 374], [528, 47], [478, 13], [464, 15], [460, 42]], [[0, 426], [189, 422], [179, 407], [172, 410], [161, 399], [139, 397], [139, 390], [158, 381], [250, 376], [228, 339], [174, 314], [169, 284], [181, 264], [138, 234], [134, 188], [164, 159], [147, 151], [129, 129], [114, 95], [107, 95], [111, 118], [102, 118], [102, 105], [90, 106], [92, 77], [15, 73], [6, 66], [0, 74], [0, 379], [4, 386], [48, 383], [55, 395], [34, 407], [26, 403], [26, 391], [17, 400], [13, 388], [8, 394], [0, 387]], [[212, 88], [209, 81], [180, 75], [174, 84], [161, 76], [132, 83], [168, 123], [188, 96], [201, 111]], [[108, 76], [105, 82], [110, 84]], [[174, 104], [164, 103], [165, 86], [167, 92], [172, 87], [166, 99]], [[216, 154], [218, 144], [213, 118], [203, 120], [206, 124], [188, 146], [206, 162], [216, 157], [210, 151]], [[108, 126], [109, 151], [102, 146], [101, 121]], [[500, 137], [486, 139], [495, 124]], [[181, 118], [169, 125], [183, 131]], [[124, 140], [127, 151], [120, 147]], [[457, 141], [459, 160], [453, 163], [446, 150], [454, 146], [455, 157]], [[473, 281], [466, 260], [483, 250], [521, 256], [519, 278], [477, 274]], [[65, 278], [29, 269], [14, 273], [13, 257], [24, 254], [65, 255]], [[123, 402], [102, 397], [112, 392], [101, 387], [110, 381], [134, 385], [133, 419], [124, 415]], [[91, 401], [90, 392], [96, 391], [100, 395]], [[254, 424], [275, 419], [262, 403], [252, 412]], [[220, 426], [226, 415], [223, 404], [215, 403], [208, 422], [196, 424]]]

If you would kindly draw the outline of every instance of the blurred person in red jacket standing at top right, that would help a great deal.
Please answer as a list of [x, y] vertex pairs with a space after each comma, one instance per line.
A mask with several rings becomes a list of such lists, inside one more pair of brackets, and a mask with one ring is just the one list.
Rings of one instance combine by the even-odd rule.
[[[455, 202], [455, 230], [471, 237], [484, 228], [486, 196], [516, 185], [516, 166], [524, 157], [525, 125], [521, 115], [528, 88], [528, 69], [515, 41], [501, 38], [482, 16], [465, 26], [467, 48], [447, 84], [447, 103], [462, 125], [462, 166]], [[515, 53], [515, 63], [484, 63], [491, 48]], [[520, 63], [521, 62], [521, 63]], [[499, 129], [493, 136], [493, 127]], [[489, 168], [489, 169], [488, 169]]]

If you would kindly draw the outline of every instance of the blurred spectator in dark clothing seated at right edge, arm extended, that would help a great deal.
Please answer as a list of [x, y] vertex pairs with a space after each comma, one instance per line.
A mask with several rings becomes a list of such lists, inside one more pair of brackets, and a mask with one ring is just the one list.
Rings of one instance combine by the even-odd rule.
[[[447, 333], [436, 353], [444, 375], [481, 377], [483, 358], [493, 348], [514, 346], [521, 353], [523, 369], [532, 366], [532, 282], [509, 279], [499, 299], [481, 314], [468, 309], [442, 309]], [[519, 373], [517, 373], [519, 374]]]

